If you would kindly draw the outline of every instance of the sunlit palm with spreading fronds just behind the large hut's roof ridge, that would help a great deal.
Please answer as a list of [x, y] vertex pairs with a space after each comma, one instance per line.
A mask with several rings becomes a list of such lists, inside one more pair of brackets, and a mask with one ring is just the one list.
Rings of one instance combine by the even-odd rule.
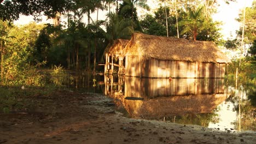
[[188, 19], [182, 20], [178, 22], [179, 26], [184, 26], [181, 34], [191, 32], [193, 34], [193, 39], [196, 40], [197, 31], [199, 27], [202, 26], [202, 9], [203, 7], [199, 7], [195, 10], [188, 8]]

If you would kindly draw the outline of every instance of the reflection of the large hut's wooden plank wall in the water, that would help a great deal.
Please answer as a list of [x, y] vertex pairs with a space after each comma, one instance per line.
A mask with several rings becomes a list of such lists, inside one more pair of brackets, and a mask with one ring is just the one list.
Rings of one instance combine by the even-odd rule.
[[224, 79], [140, 79], [125, 77], [126, 97], [224, 93]]

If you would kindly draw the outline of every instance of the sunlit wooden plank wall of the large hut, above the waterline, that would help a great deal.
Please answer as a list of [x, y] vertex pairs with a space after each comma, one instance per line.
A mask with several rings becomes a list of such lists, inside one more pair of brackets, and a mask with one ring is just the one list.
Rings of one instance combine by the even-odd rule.
[[125, 75], [152, 78], [223, 78], [225, 63], [169, 61], [126, 56]]

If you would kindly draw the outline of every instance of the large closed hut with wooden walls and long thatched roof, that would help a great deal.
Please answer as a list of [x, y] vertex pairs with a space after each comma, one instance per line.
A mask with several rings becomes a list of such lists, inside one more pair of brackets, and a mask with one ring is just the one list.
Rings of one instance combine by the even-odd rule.
[[210, 41], [134, 33], [124, 49], [125, 75], [223, 78], [230, 60]]

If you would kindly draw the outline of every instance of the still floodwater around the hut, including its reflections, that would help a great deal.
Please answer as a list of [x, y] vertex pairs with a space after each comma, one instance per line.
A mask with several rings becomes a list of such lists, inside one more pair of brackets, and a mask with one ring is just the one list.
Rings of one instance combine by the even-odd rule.
[[118, 76], [78, 76], [68, 86], [118, 99], [133, 118], [256, 131], [255, 86], [235, 88], [225, 85], [224, 79]]

